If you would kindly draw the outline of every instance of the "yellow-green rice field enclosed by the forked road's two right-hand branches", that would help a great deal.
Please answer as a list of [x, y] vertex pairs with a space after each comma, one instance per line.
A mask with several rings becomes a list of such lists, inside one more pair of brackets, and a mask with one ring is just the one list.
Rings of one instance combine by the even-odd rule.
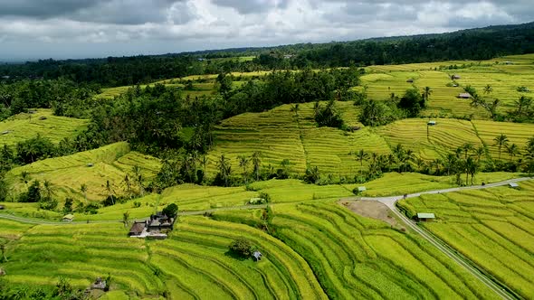
[[431, 231], [524, 298], [534, 297], [534, 181], [424, 195], [399, 202], [408, 215], [434, 212]]

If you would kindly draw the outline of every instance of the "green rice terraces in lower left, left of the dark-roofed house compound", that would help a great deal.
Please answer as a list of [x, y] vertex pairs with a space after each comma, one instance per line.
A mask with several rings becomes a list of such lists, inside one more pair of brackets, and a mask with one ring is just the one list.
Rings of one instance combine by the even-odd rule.
[[[0, 234], [7, 230], [0, 228]], [[157, 295], [163, 280], [149, 265], [144, 240], [129, 239], [121, 224], [38, 225], [8, 245], [3, 267], [11, 284], [53, 285], [59, 277], [85, 288], [96, 277], [133, 295]]]

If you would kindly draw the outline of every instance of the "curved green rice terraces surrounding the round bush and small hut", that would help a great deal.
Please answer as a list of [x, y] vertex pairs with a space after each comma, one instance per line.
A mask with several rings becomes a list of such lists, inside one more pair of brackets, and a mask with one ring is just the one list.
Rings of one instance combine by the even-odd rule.
[[[233, 239], [246, 238], [262, 261], [227, 254]], [[176, 299], [326, 299], [317, 279], [293, 249], [262, 230], [242, 224], [183, 218], [171, 239], [151, 247], [151, 262], [167, 277]]]

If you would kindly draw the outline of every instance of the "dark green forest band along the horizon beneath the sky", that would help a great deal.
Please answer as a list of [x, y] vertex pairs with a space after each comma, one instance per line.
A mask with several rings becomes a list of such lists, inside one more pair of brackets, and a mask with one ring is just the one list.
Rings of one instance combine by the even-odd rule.
[[[66, 79], [102, 87], [134, 85], [191, 74], [484, 60], [534, 52], [534, 23], [491, 26], [455, 33], [295, 44], [77, 61], [42, 60], [0, 65], [0, 80]], [[255, 56], [242, 61], [239, 56]]]

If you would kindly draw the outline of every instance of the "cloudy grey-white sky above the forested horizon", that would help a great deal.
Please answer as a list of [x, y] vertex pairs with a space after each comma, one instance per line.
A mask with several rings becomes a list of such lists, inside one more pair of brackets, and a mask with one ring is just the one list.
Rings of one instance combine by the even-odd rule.
[[531, 21], [532, 0], [0, 0], [0, 61], [348, 41]]

